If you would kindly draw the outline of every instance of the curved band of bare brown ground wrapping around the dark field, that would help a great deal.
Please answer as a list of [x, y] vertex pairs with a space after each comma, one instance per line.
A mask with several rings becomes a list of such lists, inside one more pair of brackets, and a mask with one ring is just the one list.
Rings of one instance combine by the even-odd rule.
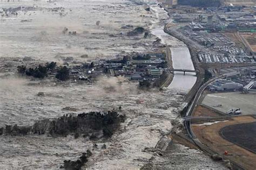
[[255, 118], [251, 116], [240, 116], [233, 117], [230, 121], [219, 122], [211, 125], [193, 124], [192, 130], [201, 143], [210, 147], [211, 150], [219, 153], [220, 155], [224, 155], [224, 151], [227, 151], [228, 155], [226, 155], [226, 158], [237, 162], [237, 164], [241, 165], [245, 169], [254, 169], [256, 154], [225, 140], [219, 135], [219, 131], [228, 125], [251, 123], [255, 121]]

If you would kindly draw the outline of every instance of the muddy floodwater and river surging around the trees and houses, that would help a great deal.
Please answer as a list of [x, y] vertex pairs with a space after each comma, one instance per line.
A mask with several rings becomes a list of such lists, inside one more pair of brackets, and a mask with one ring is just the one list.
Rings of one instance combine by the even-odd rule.
[[[33, 67], [56, 61], [60, 66], [66, 58], [72, 59], [70, 65], [78, 65], [132, 52], [156, 52], [157, 37], [162, 39], [161, 45], [170, 46], [174, 68], [193, 69], [185, 45], [163, 32], [168, 16], [153, 2], [0, 0], [0, 12], [2, 8], [17, 8], [13, 14], [0, 16], [0, 128], [90, 111], [115, 109], [126, 115], [110, 139], [2, 135], [0, 169], [58, 169], [64, 160], [77, 160], [87, 149], [92, 156], [84, 169], [138, 169], [149, 162], [167, 169], [224, 169], [198, 150], [179, 144], [169, 146], [172, 123], [179, 123], [185, 98], [180, 91], [192, 87], [196, 81], [193, 75], [175, 73], [172, 88], [142, 91], [137, 88], [138, 82], [104, 74], [92, 83], [31, 80], [17, 74], [19, 65]], [[151, 10], [146, 11], [149, 6]], [[142, 26], [153, 34], [149, 38], [126, 36], [132, 30], [127, 25]], [[71, 33], [63, 33], [65, 27]], [[44, 96], [38, 96], [38, 92]], [[120, 106], [122, 109], [118, 109]], [[66, 107], [75, 109], [63, 109]], [[163, 149], [160, 152], [169, 146], [170, 157], [160, 156], [160, 149], [155, 148], [159, 145]]]

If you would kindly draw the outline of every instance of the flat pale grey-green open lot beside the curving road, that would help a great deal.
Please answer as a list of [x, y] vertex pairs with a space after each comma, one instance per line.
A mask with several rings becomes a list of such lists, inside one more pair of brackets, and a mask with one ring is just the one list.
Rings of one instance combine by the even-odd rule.
[[[203, 104], [221, 112], [230, 109], [240, 108], [242, 115], [256, 114], [256, 94], [241, 94], [240, 92], [208, 94], [203, 100]], [[219, 106], [221, 104], [221, 106]]]

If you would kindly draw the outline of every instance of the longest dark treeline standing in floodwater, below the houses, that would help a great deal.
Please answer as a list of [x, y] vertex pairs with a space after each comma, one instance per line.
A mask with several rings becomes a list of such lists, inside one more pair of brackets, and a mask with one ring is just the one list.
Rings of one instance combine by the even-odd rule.
[[50, 134], [53, 137], [66, 137], [72, 134], [78, 138], [83, 137], [97, 139], [100, 137], [111, 137], [119, 128], [120, 122], [125, 121], [125, 116], [116, 111], [89, 112], [73, 115], [63, 115], [58, 119], [44, 119], [32, 126], [6, 125], [0, 128], [0, 135], [26, 135], [26, 134]]

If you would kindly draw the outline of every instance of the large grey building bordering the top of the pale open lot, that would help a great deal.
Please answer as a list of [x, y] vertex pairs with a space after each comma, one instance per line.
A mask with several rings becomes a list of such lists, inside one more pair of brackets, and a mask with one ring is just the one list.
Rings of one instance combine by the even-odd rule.
[[210, 90], [213, 90], [213, 91], [230, 91], [230, 90], [239, 90], [243, 88], [242, 84], [236, 83], [230, 80], [226, 80], [226, 79], [216, 80], [209, 87], [210, 87]]

